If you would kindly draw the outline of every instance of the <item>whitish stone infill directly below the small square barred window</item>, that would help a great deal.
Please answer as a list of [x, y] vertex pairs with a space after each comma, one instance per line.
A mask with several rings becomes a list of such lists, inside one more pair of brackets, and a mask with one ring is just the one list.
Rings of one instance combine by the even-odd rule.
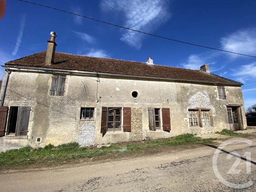
[[92, 121], [80, 121], [78, 144], [80, 146], [92, 146], [94, 145], [95, 138], [95, 122]]

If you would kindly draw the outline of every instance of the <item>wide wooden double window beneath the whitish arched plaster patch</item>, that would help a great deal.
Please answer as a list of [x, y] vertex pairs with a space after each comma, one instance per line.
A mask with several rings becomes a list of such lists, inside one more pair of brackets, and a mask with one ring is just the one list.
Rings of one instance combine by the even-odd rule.
[[210, 110], [191, 109], [188, 114], [190, 126], [213, 126]]

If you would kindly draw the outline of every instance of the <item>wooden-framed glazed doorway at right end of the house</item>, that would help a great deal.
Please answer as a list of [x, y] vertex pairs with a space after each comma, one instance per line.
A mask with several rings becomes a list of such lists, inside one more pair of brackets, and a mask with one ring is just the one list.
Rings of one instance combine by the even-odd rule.
[[228, 112], [228, 127], [232, 131], [242, 130], [241, 128], [241, 119], [240, 119], [240, 112], [238, 106], [230, 106], [227, 107]]

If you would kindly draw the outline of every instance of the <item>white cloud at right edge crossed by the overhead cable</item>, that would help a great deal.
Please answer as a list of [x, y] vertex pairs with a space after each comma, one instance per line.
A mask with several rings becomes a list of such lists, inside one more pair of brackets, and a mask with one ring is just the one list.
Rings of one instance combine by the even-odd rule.
[[[248, 55], [256, 54], [256, 28], [239, 30], [220, 39], [221, 48], [231, 52], [237, 52]], [[238, 54], [228, 54], [231, 58], [239, 56]]]

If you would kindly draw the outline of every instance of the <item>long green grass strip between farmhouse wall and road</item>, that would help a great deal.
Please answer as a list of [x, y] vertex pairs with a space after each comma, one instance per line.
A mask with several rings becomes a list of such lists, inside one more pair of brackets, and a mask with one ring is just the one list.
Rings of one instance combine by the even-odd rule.
[[106, 148], [79, 147], [78, 143], [68, 143], [59, 146], [49, 144], [44, 148], [33, 149], [26, 146], [20, 149], [8, 150], [0, 153], [0, 166], [34, 164], [43, 160], [69, 160], [78, 158], [92, 158], [105, 154], [132, 153], [149, 150], [160, 146], [179, 146], [185, 144], [207, 143], [214, 138], [202, 139], [194, 134], [183, 134], [168, 139], [149, 140], [131, 144], [111, 144]]

